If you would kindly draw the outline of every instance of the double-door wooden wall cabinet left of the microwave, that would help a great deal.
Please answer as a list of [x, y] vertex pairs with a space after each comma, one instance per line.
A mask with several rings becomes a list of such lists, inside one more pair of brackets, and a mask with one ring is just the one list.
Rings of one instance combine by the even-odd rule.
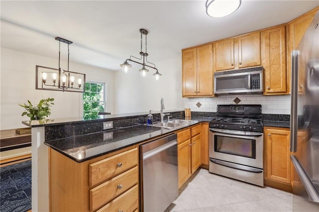
[[212, 97], [212, 44], [182, 50], [182, 96]]

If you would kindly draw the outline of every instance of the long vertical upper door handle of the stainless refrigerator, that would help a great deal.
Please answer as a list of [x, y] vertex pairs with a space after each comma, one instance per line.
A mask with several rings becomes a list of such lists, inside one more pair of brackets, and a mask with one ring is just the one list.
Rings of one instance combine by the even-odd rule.
[[299, 51], [291, 52], [291, 120], [290, 120], [290, 151], [297, 151], [297, 100], [298, 100], [298, 55]]

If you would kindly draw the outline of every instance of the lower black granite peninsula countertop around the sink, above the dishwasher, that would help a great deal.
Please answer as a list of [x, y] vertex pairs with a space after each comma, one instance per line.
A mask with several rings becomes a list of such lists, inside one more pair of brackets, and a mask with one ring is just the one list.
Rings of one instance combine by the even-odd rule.
[[[198, 121], [193, 124], [197, 124], [202, 121], [209, 121], [210, 119], [211, 117], [191, 117], [191, 120]], [[186, 125], [185, 127], [188, 126], [190, 125]], [[150, 139], [156, 139], [162, 135], [171, 134], [174, 131], [182, 128], [168, 129], [147, 125], [137, 125], [85, 135], [72, 136], [68, 138], [49, 140], [45, 141], [44, 144], [71, 158], [72, 160], [81, 163], [83, 161]]]

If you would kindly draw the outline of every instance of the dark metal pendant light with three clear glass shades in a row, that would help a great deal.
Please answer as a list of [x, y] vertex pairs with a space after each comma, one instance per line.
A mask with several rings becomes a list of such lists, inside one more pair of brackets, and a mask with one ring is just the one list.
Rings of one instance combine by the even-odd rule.
[[[129, 64], [128, 61], [141, 64], [142, 68], [139, 71], [140, 71], [142, 77], [145, 77], [147, 75], [149, 70], [146, 67], [149, 67], [149, 68], [152, 68], [152, 69], [156, 70], [156, 72], [153, 74], [153, 76], [155, 76], [155, 79], [158, 80], [160, 78], [160, 76], [161, 76], [160, 72], [155, 67], [154, 63], [151, 63], [151, 62], [148, 61], [149, 53], [148, 53], [147, 38], [148, 38], [149, 32], [146, 29], [140, 29], [140, 32], [141, 32], [141, 51], [140, 51], [141, 57], [137, 58], [137, 57], [134, 57], [134, 56], [130, 56], [130, 58], [126, 59], [126, 61], [123, 64], [121, 64], [120, 67], [122, 67], [122, 71], [127, 73], [130, 70], [130, 68], [132, 67], [132, 65]], [[143, 51], [143, 35], [145, 36], [145, 51]], [[135, 59], [137, 59], [139, 61], [133, 60], [133, 58], [135, 58]]]

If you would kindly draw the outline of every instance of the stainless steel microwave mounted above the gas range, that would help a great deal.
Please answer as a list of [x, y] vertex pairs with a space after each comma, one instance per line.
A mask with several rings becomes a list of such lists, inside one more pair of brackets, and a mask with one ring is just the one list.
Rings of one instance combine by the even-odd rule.
[[263, 92], [262, 66], [214, 73], [214, 93], [260, 94]]

